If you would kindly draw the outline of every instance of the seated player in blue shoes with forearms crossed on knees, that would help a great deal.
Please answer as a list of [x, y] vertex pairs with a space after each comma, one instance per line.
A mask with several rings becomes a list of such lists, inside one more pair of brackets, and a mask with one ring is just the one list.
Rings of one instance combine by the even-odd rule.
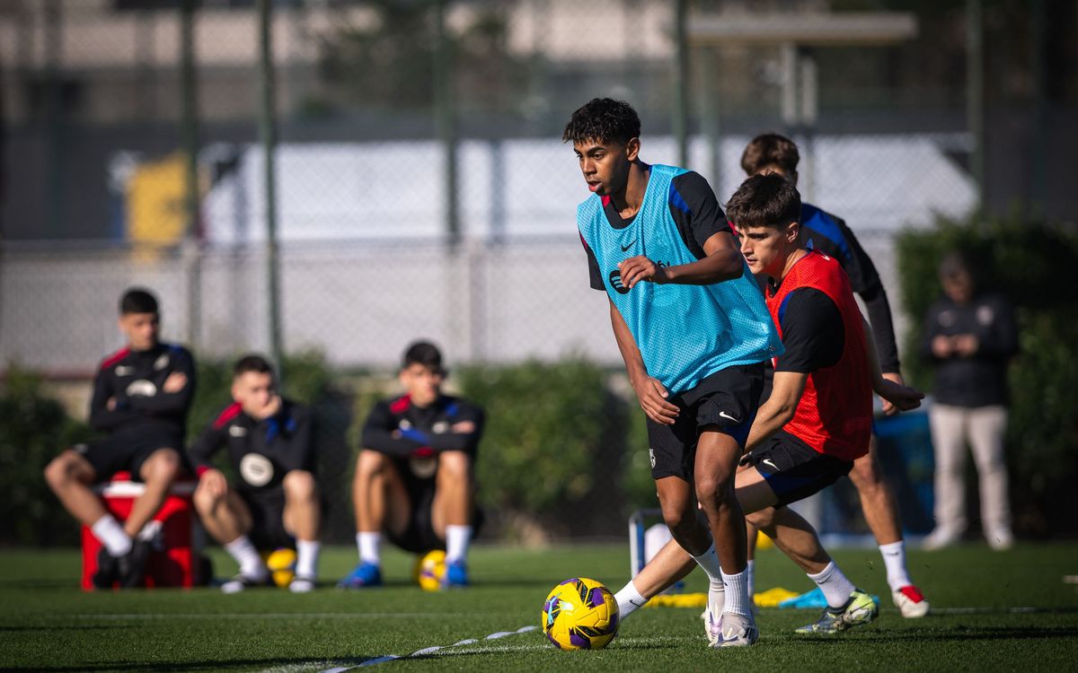
[[399, 375], [404, 395], [379, 402], [367, 419], [351, 490], [359, 564], [340, 587], [382, 584], [383, 532], [406, 551], [445, 549], [442, 587], [468, 584], [483, 410], [442, 394], [445, 375], [438, 347], [412, 343]]

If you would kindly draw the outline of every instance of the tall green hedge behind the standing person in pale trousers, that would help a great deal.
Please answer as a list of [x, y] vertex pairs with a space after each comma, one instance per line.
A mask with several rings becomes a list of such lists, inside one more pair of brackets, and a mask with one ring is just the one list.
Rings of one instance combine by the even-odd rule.
[[904, 366], [924, 390], [932, 371], [920, 357], [921, 333], [941, 294], [936, 269], [944, 254], [963, 251], [982, 286], [1014, 305], [1020, 353], [1010, 367], [1007, 448], [1015, 525], [1026, 534], [1078, 531], [1069, 514], [1078, 505], [1078, 293], [1068, 283], [1078, 269], [1078, 230], [1017, 218], [942, 221], [935, 230], [901, 234], [897, 244], [910, 318]]

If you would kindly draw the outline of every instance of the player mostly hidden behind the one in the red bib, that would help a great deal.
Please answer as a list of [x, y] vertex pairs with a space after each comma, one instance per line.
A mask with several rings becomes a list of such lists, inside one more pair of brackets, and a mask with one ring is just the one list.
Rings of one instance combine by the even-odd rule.
[[[754, 138], [745, 148], [742, 154], [742, 168], [747, 176], [775, 172], [797, 186], [799, 160], [798, 146], [792, 140], [778, 134], [763, 134]], [[851, 289], [865, 300], [869, 322], [875, 335], [883, 376], [901, 384], [902, 375], [899, 369], [898, 347], [895, 341], [887, 293], [872, 260], [865, 253], [854, 233], [840, 218], [802, 202], [801, 241], [806, 248], [818, 250], [838, 261], [846, 271]], [[766, 390], [764, 394], [768, 394]], [[928, 614], [928, 601], [910, 579], [898, 506], [895, 494], [883, 478], [874, 435], [869, 440], [869, 452], [854, 461], [849, 480], [857, 487], [861, 508], [865, 510], [865, 520], [880, 546], [892, 600], [903, 617], [924, 617]], [[756, 531], [751, 525], [749, 528], [749, 556], [752, 556]], [[751, 567], [752, 563], [749, 562], [750, 581]]]

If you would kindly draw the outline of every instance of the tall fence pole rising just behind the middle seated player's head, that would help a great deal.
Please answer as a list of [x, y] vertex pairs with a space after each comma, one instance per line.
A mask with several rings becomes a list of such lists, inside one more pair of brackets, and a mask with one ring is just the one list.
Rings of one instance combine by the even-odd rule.
[[266, 208], [266, 295], [270, 312], [270, 356], [281, 376], [280, 281], [277, 260], [277, 180], [274, 154], [277, 146], [277, 116], [274, 106], [272, 0], [259, 0], [259, 136], [262, 141]]

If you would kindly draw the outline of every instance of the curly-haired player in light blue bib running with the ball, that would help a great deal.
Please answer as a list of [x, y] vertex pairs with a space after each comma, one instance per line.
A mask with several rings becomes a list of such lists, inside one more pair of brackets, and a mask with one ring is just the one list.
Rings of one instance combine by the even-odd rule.
[[720, 644], [751, 645], [758, 630], [733, 480], [762, 362], [782, 343], [710, 186], [694, 172], [645, 164], [639, 136], [639, 117], [625, 102], [596, 98], [572, 113], [562, 139], [572, 142], [594, 194], [578, 208], [577, 224], [592, 288], [607, 293], [614, 338], [648, 417], [663, 519], [707, 573], [716, 609], [727, 586]]

